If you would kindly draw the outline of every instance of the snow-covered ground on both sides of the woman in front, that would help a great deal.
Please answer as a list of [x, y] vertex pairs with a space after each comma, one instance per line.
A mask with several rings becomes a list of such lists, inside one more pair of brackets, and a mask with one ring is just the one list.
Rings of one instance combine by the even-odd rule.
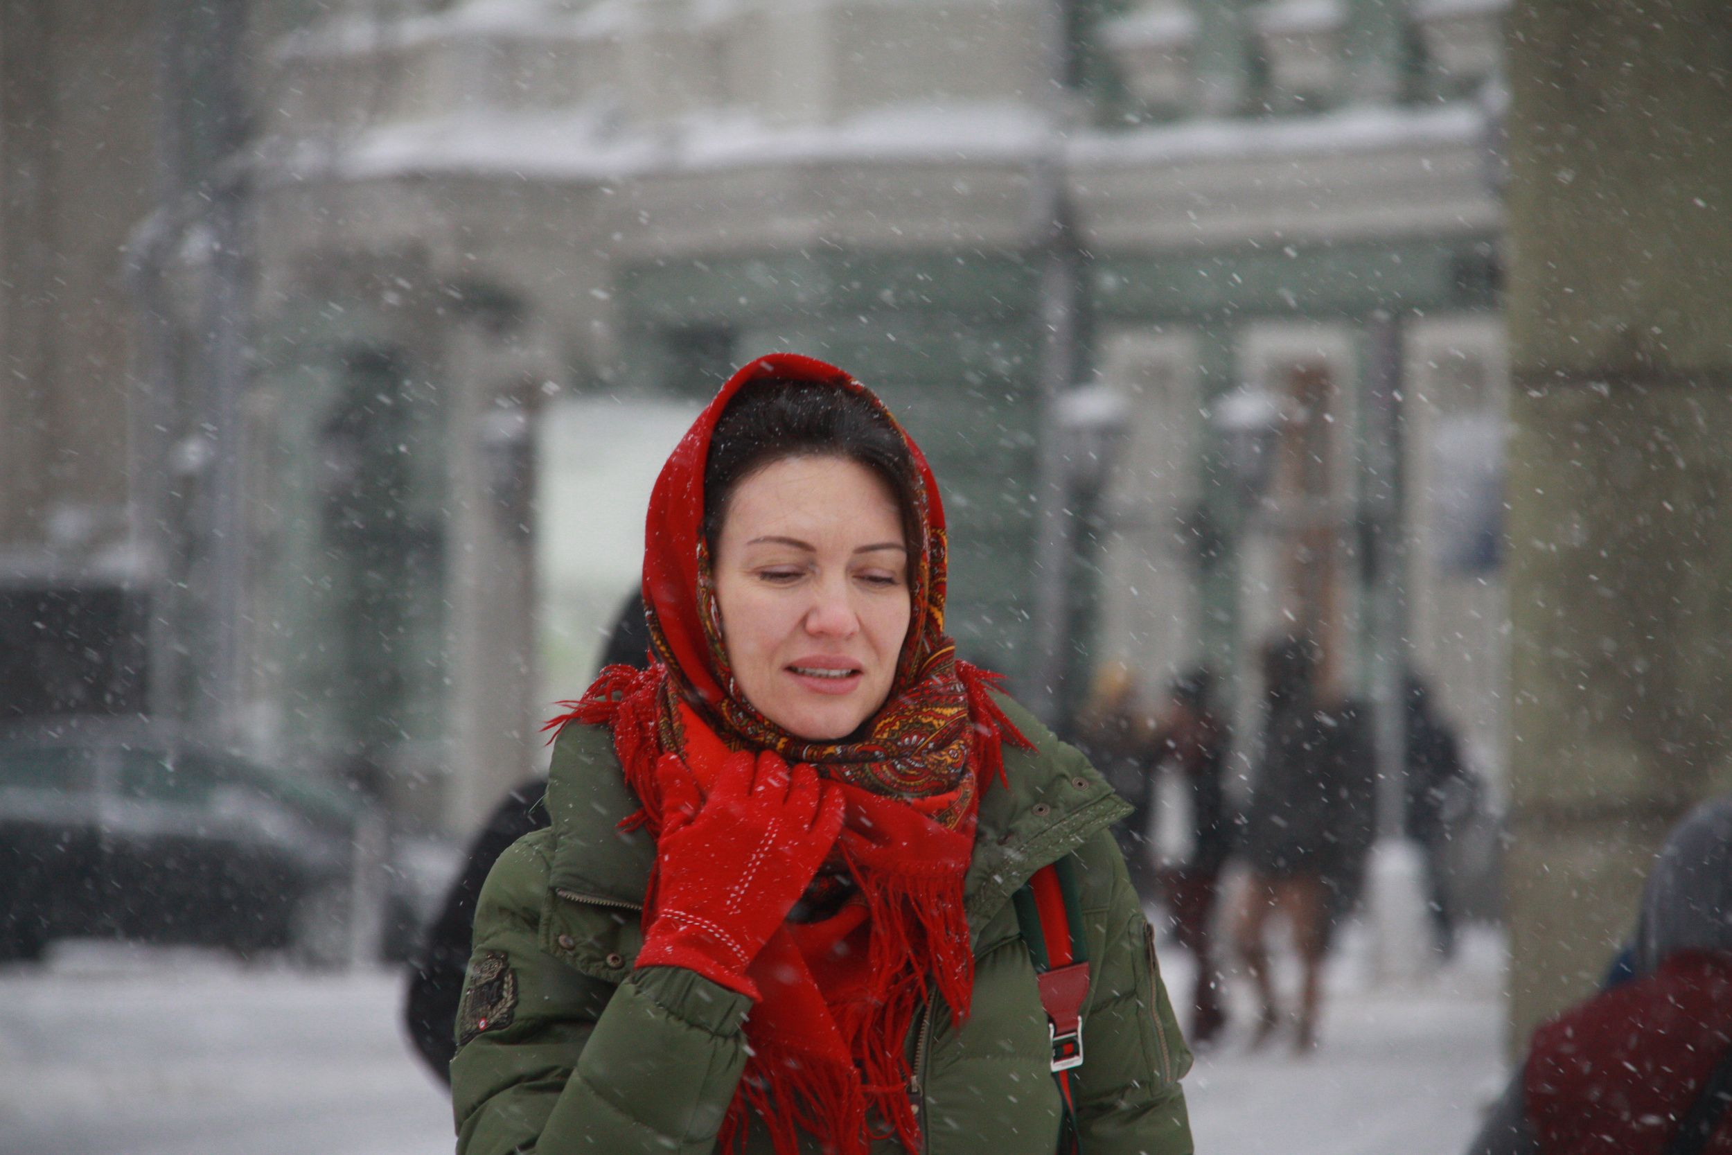
[[[1405, 989], [1330, 973], [1322, 1046], [1228, 1037], [1185, 1081], [1202, 1155], [1457, 1155], [1502, 1084], [1500, 945]], [[1188, 990], [1186, 959], [1162, 952]], [[431, 1155], [443, 1091], [397, 1025], [400, 977], [69, 944], [0, 970], [0, 1155]], [[1242, 1010], [1242, 1008], [1240, 1008]], [[1247, 1020], [1240, 1015], [1240, 1022]]]

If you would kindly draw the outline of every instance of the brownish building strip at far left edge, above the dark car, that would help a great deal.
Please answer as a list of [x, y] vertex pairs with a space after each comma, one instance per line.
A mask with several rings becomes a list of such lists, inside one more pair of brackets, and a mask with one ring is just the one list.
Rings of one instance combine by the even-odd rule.
[[0, 715], [144, 705], [126, 239], [154, 208], [151, 5], [0, 29]]

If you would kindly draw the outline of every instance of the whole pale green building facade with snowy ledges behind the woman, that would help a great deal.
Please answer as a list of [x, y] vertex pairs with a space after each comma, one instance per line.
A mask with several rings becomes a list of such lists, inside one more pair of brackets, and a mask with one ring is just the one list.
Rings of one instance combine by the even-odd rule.
[[[1495, 483], [1503, 405], [1498, 5], [1076, 5], [1057, 104], [1046, 14], [357, 3], [279, 40], [258, 100], [253, 417], [277, 455], [251, 500], [275, 511], [255, 525], [279, 575], [258, 587], [258, 724], [294, 739], [372, 715], [390, 776], [461, 767], [438, 807], [478, 812], [537, 748], [537, 405], [701, 397], [772, 348], [830, 357], [906, 414], [951, 492], [954, 630], [1029, 674], [1057, 171], [1081, 376], [1128, 402], [1114, 468], [1072, 492], [1093, 533], [1070, 672], [1231, 675], [1304, 627], [1363, 687], [1363, 322], [1398, 310], [1415, 663], [1496, 771], [1502, 584], [1469, 540], [1496, 526], [1462, 478]], [[1231, 483], [1211, 421], [1242, 386], [1282, 412], [1264, 494]], [[412, 447], [398, 481], [374, 476], [393, 445]], [[350, 476], [379, 487], [371, 513], [319, 497]], [[353, 625], [385, 604], [390, 655]]]

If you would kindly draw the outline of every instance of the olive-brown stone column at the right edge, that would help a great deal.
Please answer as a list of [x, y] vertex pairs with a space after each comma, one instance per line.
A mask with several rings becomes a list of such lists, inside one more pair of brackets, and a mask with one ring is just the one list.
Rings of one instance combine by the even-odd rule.
[[1723, 16], [1510, 10], [1517, 1048], [1599, 984], [1668, 826], [1732, 784]]

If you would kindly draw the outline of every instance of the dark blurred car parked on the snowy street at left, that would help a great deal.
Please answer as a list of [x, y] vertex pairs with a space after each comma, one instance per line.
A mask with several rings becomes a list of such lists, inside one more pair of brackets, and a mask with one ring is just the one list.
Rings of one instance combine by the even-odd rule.
[[142, 720], [0, 729], [0, 959], [120, 937], [336, 965], [365, 814]]

